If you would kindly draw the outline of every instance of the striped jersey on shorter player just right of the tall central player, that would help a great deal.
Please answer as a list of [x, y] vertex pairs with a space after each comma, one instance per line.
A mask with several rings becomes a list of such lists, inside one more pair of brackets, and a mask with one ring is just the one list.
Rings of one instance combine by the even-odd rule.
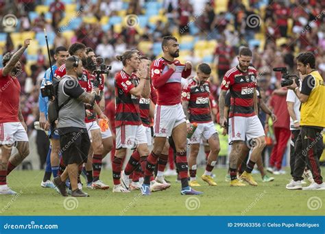
[[210, 84], [200, 83], [197, 78], [189, 79], [182, 91], [182, 101], [189, 102], [190, 122], [211, 122]]

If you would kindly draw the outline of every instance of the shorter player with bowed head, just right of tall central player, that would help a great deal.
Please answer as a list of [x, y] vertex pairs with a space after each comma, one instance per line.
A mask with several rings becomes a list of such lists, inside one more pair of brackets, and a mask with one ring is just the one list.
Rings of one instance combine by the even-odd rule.
[[220, 151], [219, 136], [213, 124], [210, 107], [210, 77], [211, 68], [208, 64], [199, 64], [197, 67], [197, 76], [189, 79], [182, 90], [182, 107], [189, 120], [188, 125], [197, 123], [197, 129], [194, 131], [189, 142], [191, 144], [191, 154], [189, 157], [189, 173], [191, 177], [190, 186], [201, 186], [196, 180], [196, 159], [200, 150], [202, 138], [210, 146], [210, 154], [206, 164], [206, 170], [202, 175], [202, 180], [211, 186], [217, 186], [213, 181], [212, 170], [217, 163], [217, 157]]

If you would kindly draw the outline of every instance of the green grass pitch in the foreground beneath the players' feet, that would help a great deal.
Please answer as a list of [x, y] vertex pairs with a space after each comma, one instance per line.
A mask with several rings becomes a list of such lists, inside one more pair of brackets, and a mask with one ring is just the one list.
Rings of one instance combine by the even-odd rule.
[[[322, 168], [324, 171], [324, 168]], [[203, 170], [199, 170], [201, 175]], [[167, 177], [171, 188], [144, 197], [140, 192], [113, 194], [112, 189], [84, 191], [89, 198], [65, 200], [53, 189], [40, 187], [43, 171], [12, 172], [8, 185], [15, 196], [0, 196], [1, 216], [323, 216], [324, 191], [289, 191], [285, 189], [290, 175], [274, 176], [275, 181], [263, 183], [254, 174], [257, 187], [230, 187], [224, 181], [226, 169], [215, 169], [217, 187], [209, 187], [201, 179], [202, 196], [181, 196], [175, 177]], [[324, 173], [323, 173], [324, 176]], [[110, 170], [101, 179], [112, 185]], [[309, 201], [309, 204], [307, 204]], [[65, 209], [66, 207], [67, 209]], [[309, 209], [309, 207], [311, 209]], [[74, 208], [74, 209], [72, 209]], [[318, 208], [318, 209], [315, 209]], [[71, 209], [71, 210], [70, 210]], [[312, 210], [314, 209], [314, 210]]]

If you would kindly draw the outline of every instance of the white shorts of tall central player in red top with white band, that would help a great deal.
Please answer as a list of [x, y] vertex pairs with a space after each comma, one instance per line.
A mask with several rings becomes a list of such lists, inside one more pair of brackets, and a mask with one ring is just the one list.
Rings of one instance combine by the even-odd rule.
[[154, 109], [154, 135], [171, 136], [173, 129], [186, 122], [182, 105], [156, 105]]

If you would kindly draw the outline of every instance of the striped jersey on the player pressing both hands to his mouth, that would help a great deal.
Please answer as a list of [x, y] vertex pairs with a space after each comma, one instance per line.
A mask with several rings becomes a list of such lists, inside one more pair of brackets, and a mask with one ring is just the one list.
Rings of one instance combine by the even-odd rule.
[[115, 127], [121, 125], [141, 125], [139, 98], [130, 94], [130, 90], [139, 84], [134, 73], [124, 70], [115, 75]]

